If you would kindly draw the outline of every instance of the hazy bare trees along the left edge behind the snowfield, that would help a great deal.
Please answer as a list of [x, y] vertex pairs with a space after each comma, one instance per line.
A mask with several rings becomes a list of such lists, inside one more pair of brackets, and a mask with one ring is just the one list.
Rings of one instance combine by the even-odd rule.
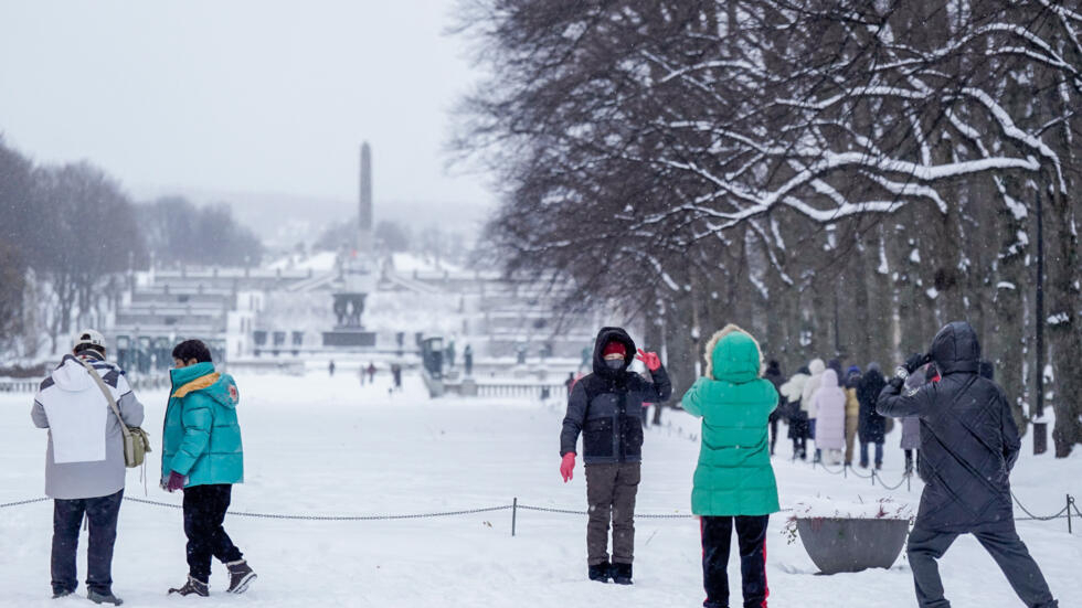
[[258, 264], [259, 239], [227, 205], [134, 204], [88, 162], [35, 164], [0, 138], [0, 350], [34, 355], [75, 324], [100, 323], [124, 273]]

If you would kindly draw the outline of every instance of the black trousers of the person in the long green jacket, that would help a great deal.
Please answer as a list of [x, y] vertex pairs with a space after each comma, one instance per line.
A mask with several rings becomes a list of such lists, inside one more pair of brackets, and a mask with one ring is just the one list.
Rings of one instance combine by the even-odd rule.
[[729, 608], [729, 548], [736, 527], [740, 575], [745, 608], [766, 608], [766, 526], [770, 515], [700, 519], [702, 531], [702, 586], [706, 608]]

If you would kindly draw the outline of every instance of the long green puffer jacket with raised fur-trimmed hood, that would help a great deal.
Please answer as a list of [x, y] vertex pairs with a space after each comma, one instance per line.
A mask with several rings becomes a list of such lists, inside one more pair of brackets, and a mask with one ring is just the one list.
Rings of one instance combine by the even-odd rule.
[[778, 511], [767, 423], [777, 391], [760, 377], [759, 343], [728, 326], [707, 344], [707, 374], [682, 406], [702, 418], [702, 447], [691, 491], [697, 515], [767, 515]]

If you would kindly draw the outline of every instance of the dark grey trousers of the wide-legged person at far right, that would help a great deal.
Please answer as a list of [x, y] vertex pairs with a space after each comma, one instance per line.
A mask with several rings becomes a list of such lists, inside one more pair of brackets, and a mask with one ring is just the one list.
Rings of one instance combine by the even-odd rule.
[[[1059, 606], [1048, 589], [1048, 583], [1029, 550], [1018, 537], [1014, 525], [973, 532], [977, 541], [991, 554], [1007, 582], [1029, 608], [1056, 608]], [[909, 536], [909, 563], [913, 569], [916, 600], [921, 608], [950, 608], [943, 597], [943, 582], [936, 559], [943, 557], [958, 534], [933, 532], [914, 527]]]

